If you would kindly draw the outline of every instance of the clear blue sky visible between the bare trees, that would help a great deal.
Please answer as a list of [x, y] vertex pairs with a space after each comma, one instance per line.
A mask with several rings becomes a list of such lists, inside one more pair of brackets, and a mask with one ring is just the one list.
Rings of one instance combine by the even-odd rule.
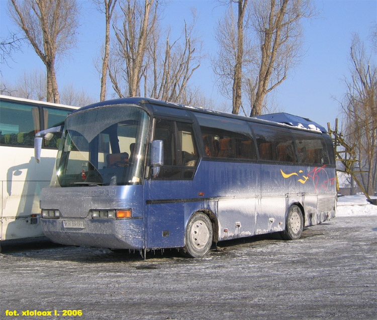
[[[89, 1], [79, 0], [84, 14], [81, 17], [77, 47], [57, 68], [59, 89], [65, 85], [85, 90], [88, 95], [99, 98], [100, 78], [93, 61], [99, 55], [104, 41], [104, 17]], [[349, 49], [353, 33], [359, 33], [369, 48], [371, 27], [376, 23], [377, 1], [316, 1], [320, 15], [304, 22], [305, 56], [289, 78], [277, 87], [274, 103], [281, 111], [310, 118], [322, 126], [334, 123], [339, 113], [339, 102], [345, 93], [343, 79], [349, 75]], [[224, 98], [218, 92], [210, 64], [211, 55], [216, 53], [215, 26], [224, 14], [225, 7], [206, 0], [172, 0], [164, 10], [163, 23], [173, 31], [180, 32], [183, 19], [190, 21], [191, 8], [197, 9], [197, 34], [203, 41], [201, 66], [192, 77], [192, 83], [199, 86], [206, 96], [215, 101]], [[9, 31], [15, 31], [7, 14], [7, 1], [0, 0], [0, 38]], [[374, 60], [376, 57], [374, 56]], [[16, 81], [24, 71], [45, 70], [43, 63], [31, 47], [2, 65], [2, 76], [6, 81]], [[109, 96], [110, 97], [110, 96]], [[231, 101], [228, 100], [231, 109]]]

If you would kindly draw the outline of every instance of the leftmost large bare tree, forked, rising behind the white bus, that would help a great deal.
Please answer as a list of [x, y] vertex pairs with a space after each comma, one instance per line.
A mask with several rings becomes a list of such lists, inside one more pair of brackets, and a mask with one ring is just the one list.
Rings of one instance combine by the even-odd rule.
[[75, 0], [11, 0], [9, 11], [47, 70], [47, 101], [59, 103], [55, 61], [75, 43]]

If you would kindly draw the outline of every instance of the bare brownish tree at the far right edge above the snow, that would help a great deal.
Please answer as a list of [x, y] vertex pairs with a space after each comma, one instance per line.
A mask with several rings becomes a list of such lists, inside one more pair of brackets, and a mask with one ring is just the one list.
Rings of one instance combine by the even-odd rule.
[[345, 140], [358, 153], [363, 187], [373, 195], [377, 187], [377, 66], [366, 56], [358, 35], [352, 39], [351, 78], [345, 79], [347, 93], [343, 109]]

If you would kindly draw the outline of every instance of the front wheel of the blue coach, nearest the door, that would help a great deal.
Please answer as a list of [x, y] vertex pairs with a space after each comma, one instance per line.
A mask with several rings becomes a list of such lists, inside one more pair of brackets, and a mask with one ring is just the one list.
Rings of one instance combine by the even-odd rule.
[[203, 257], [211, 248], [213, 230], [210, 219], [201, 212], [191, 217], [187, 223], [183, 253], [192, 258]]

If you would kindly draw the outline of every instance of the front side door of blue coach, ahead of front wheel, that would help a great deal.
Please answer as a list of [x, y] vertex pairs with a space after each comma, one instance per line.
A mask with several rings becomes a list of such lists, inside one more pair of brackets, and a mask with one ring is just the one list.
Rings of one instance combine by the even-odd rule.
[[183, 247], [185, 221], [200, 202], [194, 187], [198, 148], [192, 123], [155, 119], [153, 140], [163, 142], [158, 176], [145, 180], [146, 247]]

